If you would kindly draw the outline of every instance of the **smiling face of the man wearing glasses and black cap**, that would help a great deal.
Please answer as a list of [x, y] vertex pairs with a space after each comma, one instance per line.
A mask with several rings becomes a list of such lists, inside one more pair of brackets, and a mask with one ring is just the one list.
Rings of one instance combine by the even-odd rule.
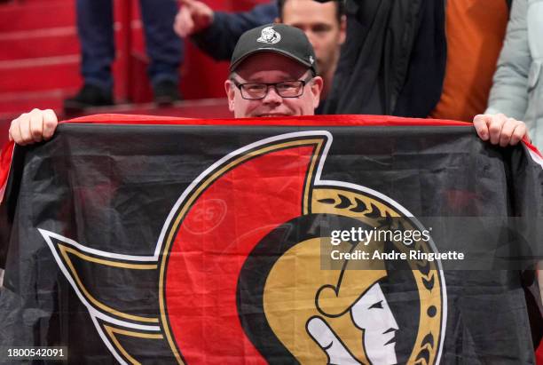
[[[260, 52], [243, 60], [235, 70], [237, 83], [281, 83], [303, 80], [311, 71], [302, 64], [274, 52]], [[248, 100], [241, 97], [240, 89], [231, 80], [224, 82], [228, 107], [236, 118], [258, 116], [313, 115], [319, 106], [322, 79], [317, 76], [303, 87], [303, 94], [295, 98], [282, 98], [274, 87], [268, 88], [264, 99]]]

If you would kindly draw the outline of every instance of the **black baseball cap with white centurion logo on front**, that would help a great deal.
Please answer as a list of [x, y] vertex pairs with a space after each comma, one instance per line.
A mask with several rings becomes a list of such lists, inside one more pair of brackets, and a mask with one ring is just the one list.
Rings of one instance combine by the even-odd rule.
[[302, 30], [285, 24], [266, 24], [243, 33], [230, 61], [233, 72], [248, 56], [257, 52], [276, 52], [298, 61], [317, 75], [313, 46]]

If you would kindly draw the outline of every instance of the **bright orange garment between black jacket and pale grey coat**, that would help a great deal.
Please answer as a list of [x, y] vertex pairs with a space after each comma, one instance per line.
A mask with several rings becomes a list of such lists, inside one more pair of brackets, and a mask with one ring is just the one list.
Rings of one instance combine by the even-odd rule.
[[507, 0], [445, 2], [445, 75], [431, 118], [470, 122], [484, 112], [508, 14]]

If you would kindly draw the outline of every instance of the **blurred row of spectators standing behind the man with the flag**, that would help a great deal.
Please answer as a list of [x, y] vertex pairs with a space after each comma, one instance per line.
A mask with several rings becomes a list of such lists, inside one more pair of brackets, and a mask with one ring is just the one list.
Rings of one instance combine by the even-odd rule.
[[[324, 80], [317, 114], [527, 124], [543, 146], [543, 2], [539, 0], [272, 0], [218, 12], [198, 0], [140, 0], [154, 99], [181, 99], [183, 42], [230, 60], [240, 35], [271, 22], [308, 36]], [[67, 111], [114, 103], [111, 0], [77, 0], [82, 89]], [[539, 36], [538, 36], [539, 35]]]

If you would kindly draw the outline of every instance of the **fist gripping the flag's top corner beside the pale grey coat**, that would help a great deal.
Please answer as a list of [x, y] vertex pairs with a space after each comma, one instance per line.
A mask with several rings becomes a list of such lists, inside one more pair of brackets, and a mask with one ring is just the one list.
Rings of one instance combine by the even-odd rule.
[[501, 147], [515, 146], [524, 137], [528, 140], [526, 124], [503, 114], [480, 114], [473, 118], [477, 134], [483, 140], [490, 140], [492, 145]]

